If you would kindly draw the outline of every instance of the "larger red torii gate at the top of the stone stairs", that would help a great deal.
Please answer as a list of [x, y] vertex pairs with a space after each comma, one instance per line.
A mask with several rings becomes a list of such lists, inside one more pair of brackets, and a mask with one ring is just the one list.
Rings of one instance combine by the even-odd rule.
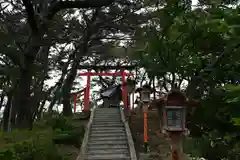
[[79, 73], [80, 76], [87, 76], [87, 86], [84, 90], [84, 112], [89, 111], [89, 102], [90, 102], [90, 81], [91, 76], [121, 76], [122, 77], [122, 97], [123, 97], [123, 104], [126, 109], [129, 109], [127, 105], [127, 90], [126, 90], [126, 76], [132, 76], [132, 73], [126, 73], [125, 71], [120, 72], [104, 72], [104, 73], [96, 73], [96, 72], [85, 72]]

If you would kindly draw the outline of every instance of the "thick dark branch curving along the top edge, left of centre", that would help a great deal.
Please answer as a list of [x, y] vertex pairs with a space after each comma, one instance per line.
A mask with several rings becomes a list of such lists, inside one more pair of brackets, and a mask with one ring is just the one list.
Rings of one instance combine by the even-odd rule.
[[69, 8], [97, 8], [108, 6], [113, 3], [114, 0], [76, 0], [76, 1], [62, 1], [53, 4], [49, 12], [47, 14], [48, 19], [52, 19], [52, 17], [62, 9]]

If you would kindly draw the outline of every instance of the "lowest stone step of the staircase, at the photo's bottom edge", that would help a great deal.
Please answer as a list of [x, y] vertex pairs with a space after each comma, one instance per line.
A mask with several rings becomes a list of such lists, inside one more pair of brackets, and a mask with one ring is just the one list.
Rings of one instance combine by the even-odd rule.
[[130, 160], [127, 154], [88, 155], [86, 160]]

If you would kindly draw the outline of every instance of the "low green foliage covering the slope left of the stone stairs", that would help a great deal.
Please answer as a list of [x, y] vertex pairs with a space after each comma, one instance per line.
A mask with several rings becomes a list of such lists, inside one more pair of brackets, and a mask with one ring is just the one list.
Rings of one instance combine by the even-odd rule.
[[[73, 126], [70, 118], [55, 116], [42, 120], [33, 131], [1, 133], [1, 160], [67, 160], [69, 153], [59, 145], [81, 145], [84, 126]], [[39, 127], [39, 128], [38, 128]]]

